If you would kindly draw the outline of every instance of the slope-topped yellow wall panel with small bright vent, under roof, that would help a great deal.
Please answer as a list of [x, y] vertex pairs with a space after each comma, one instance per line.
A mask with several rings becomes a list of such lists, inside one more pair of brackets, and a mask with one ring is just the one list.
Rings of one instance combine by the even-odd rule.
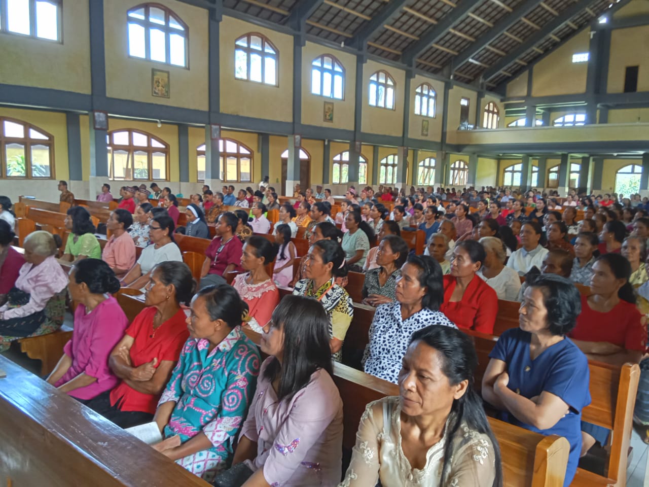
[[[572, 55], [589, 50], [590, 30], [584, 29], [535, 66], [532, 96], [583, 93], [586, 91], [587, 62], [573, 63]], [[611, 49], [611, 53], [613, 53]]]

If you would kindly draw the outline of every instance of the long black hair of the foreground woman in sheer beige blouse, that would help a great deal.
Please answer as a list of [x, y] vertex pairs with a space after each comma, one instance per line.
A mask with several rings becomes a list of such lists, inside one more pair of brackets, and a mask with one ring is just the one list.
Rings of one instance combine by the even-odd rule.
[[[476, 392], [475, 373], [478, 368], [478, 355], [471, 337], [458, 329], [429, 325], [412, 334], [410, 344], [417, 341], [437, 351], [437, 356], [441, 359], [442, 373], [447, 377], [450, 385], [455, 386], [462, 381], [468, 382], [465, 393], [459, 399], [454, 399], [451, 406], [451, 412], [454, 414], [448, 419], [448, 438], [453, 438], [463, 424], [466, 424], [471, 431], [478, 431], [488, 436], [494, 454], [495, 472], [492, 486], [502, 487], [500, 447], [489, 426], [482, 399]], [[448, 441], [444, 446], [440, 485], [447, 484], [452, 456], [453, 442]]]

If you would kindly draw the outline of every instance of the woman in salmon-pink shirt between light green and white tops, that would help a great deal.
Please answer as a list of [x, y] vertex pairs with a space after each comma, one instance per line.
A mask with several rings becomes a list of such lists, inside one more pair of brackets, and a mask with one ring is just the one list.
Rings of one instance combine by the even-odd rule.
[[113, 210], [106, 223], [112, 235], [106, 242], [101, 258], [117, 276], [125, 275], [135, 265], [135, 243], [129, 235], [132, 223], [132, 215], [124, 208]]

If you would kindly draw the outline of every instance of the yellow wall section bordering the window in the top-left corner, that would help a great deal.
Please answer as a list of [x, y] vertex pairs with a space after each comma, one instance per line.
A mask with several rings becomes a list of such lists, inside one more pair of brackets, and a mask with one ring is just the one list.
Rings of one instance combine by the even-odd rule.
[[[4, 12], [3, 12], [4, 14]], [[2, 34], [0, 83], [90, 93], [88, 1], [66, 2], [63, 43]]]

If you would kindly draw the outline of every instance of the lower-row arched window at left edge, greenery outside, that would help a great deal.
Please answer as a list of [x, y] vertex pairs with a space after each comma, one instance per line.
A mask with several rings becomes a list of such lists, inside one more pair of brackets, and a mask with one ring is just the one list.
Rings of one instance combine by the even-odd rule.
[[54, 137], [35, 125], [0, 117], [0, 176], [54, 177]]

